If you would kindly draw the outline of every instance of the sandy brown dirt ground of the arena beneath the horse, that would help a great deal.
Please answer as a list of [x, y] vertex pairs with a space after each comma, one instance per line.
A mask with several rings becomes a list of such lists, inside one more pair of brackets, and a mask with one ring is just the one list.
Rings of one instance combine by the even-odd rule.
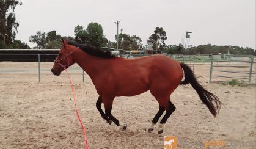
[[[53, 76], [52, 65], [41, 63], [38, 83], [36, 62], [0, 62], [5, 71], [0, 73], [0, 148], [84, 148], [67, 76]], [[170, 97], [177, 109], [161, 135], [147, 131], [158, 111], [150, 92], [115, 98], [112, 114], [127, 123], [123, 131], [101, 118], [97, 92], [86, 74], [82, 82], [82, 70], [76, 68], [69, 72], [89, 148], [164, 148], [164, 136], [177, 136], [178, 148], [204, 148], [205, 142], [221, 140], [223, 148], [255, 148], [256, 88], [208, 84], [207, 64], [196, 65], [195, 73], [225, 107], [214, 118], [190, 85], [180, 86]], [[29, 71], [9, 71], [24, 69]]]

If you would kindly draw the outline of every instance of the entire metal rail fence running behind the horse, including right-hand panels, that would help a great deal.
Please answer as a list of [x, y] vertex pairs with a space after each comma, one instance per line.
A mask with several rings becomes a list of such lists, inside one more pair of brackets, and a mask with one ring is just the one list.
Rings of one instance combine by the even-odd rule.
[[[37, 57], [38, 65], [33, 65], [33, 67], [29, 68], [18, 68], [18, 69], [10, 69], [10, 68], [0, 68], [1, 73], [29, 73], [33, 71], [38, 74], [38, 81], [41, 81], [42, 73], [50, 73], [50, 68], [41, 67], [42, 62], [41, 59], [43, 56], [57, 56], [57, 54], [0, 54], [0, 56], [35, 56]], [[125, 58], [134, 58], [134, 57], [142, 57], [146, 56], [144, 54], [131, 54], [131, 55], [122, 55]], [[255, 78], [255, 62], [254, 56], [234, 56], [234, 55], [190, 55], [190, 56], [182, 56], [182, 55], [167, 55], [172, 57], [172, 59], [178, 60], [180, 62], [184, 62], [189, 64], [194, 71], [196, 65], [207, 64], [208, 67], [210, 65], [210, 78], [209, 82], [227, 82], [232, 79], [237, 79], [241, 81], [241, 83], [247, 84], [256, 84]], [[76, 71], [76, 75], [81, 75], [82, 81], [84, 82], [84, 71], [79, 66], [69, 68], [70, 71]]]

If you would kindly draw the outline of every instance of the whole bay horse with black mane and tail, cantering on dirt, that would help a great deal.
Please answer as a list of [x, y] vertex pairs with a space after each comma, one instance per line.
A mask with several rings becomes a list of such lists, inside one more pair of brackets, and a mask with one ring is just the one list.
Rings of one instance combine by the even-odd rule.
[[[51, 72], [59, 76], [64, 69], [75, 63], [86, 71], [95, 85], [99, 95], [96, 107], [101, 117], [110, 125], [113, 121], [123, 129], [126, 129], [127, 125], [119, 122], [111, 114], [116, 96], [134, 96], [150, 90], [159, 103], [159, 111], [148, 128], [149, 132], [153, 131], [159, 118], [166, 111], [158, 125], [159, 134], [163, 133], [164, 124], [176, 109], [170, 101], [170, 95], [178, 85], [190, 83], [214, 117], [221, 107], [219, 98], [199, 84], [188, 65], [162, 54], [124, 59], [112, 55], [110, 51], [102, 51], [94, 46], [63, 40], [63, 46], [54, 60]], [[185, 79], [181, 81], [183, 74]], [[102, 103], [105, 112], [101, 109]]]

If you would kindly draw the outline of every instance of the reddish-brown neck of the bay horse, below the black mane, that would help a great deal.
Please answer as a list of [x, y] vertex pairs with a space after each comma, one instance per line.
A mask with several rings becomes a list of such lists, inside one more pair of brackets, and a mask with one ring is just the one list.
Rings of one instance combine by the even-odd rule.
[[[75, 62], [84, 70], [86, 73], [92, 78], [92, 76], [96, 73], [100, 73], [106, 64], [106, 61], [96, 56], [92, 56], [82, 51], [81, 49], [77, 49], [73, 53], [73, 59]], [[103, 65], [104, 64], [104, 65]]]

